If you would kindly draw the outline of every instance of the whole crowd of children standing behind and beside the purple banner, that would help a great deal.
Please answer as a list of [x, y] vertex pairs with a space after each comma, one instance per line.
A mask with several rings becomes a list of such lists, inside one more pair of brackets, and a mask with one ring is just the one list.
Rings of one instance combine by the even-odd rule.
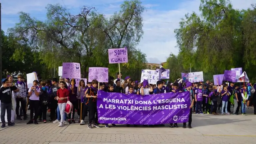
[[[246, 115], [246, 109], [250, 104], [254, 105], [254, 114], [256, 114], [256, 96], [253, 97], [256, 84], [251, 83], [223, 83], [223, 85], [213, 85], [209, 81], [206, 83], [191, 83], [178, 79], [175, 82], [165, 84], [164, 80], [157, 81], [156, 85], [134, 81], [129, 76], [124, 80], [120, 79], [122, 75], [117, 73], [117, 79], [109, 77], [108, 83], [98, 83], [97, 80], [85, 82], [69, 78], [52, 78], [52, 80], [34, 80], [33, 86], [27, 88], [23, 75], [18, 75], [16, 83], [13, 82], [11, 75], [2, 79], [2, 87], [0, 89], [1, 100], [1, 121], [2, 128], [6, 126], [5, 114], [7, 112], [8, 126], [13, 126], [14, 116], [16, 120], [27, 120], [27, 109], [30, 110], [30, 118], [27, 124], [38, 124], [38, 121], [47, 122], [47, 110], [50, 111], [50, 119], [48, 121], [59, 123], [59, 127], [63, 127], [65, 122], [68, 124], [76, 123], [74, 120], [75, 112], [79, 118], [80, 125], [85, 124], [85, 117], [89, 116], [88, 128], [100, 128], [97, 118], [97, 91], [116, 92], [124, 94], [140, 94], [151, 95], [167, 92], [190, 92], [190, 115], [188, 120], [188, 128], [192, 128], [192, 113], [196, 114], [221, 114], [238, 115], [241, 108], [241, 114]], [[76, 87], [76, 83], [78, 87]], [[98, 86], [99, 84], [99, 86]], [[254, 91], [253, 91], [254, 90]], [[13, 99], [15, 97], [15, 99]], [[14, 103], [16, 102], [16, 108]], [[72, 112], [65, 113], [66, 103], [70, 101], [73, 105]], [[231, 111], [231, 105], [234, 109]], [[29, 106], [29, 107], [28, 107]], [[14, 111], [12, 113], [12, 111]], [[115, 124], [112, 124], [116, 127]], [[130, 125], [127, 125], [129, 127]], [[134, 125], [137, 126], [137, 125]], [[144, 125], [147, 126], [147, 125]], [[163, 125], [148, 125], [149, 127]], [[108, 128], [109, 124], [105, 124]], [[170, 127], [178, 127], [177, 123], [170, 124]], [[183, 123], [186, 128], [186, 123]]]

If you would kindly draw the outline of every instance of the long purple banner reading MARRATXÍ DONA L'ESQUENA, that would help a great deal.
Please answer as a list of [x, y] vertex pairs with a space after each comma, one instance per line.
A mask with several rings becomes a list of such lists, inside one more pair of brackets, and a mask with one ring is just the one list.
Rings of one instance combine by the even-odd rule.
[[190, 93], [125, 95], [98, 91], [99, 123], [112, 124], [169, 124], [187, 122]]

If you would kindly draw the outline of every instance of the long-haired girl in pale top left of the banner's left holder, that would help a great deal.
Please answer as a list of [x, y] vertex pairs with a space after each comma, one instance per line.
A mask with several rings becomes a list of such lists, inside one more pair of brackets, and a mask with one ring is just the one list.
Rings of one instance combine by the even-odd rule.
[[[78, 89], [77, 89], [77, 104], [78, 104], [78, 111], [77, 111], [77, 114], [78, 114], [78, 117], [79, 117], [79, 123], [80, 123], [80, 117], [82, 118], [82, 116], [80, 116], [80, 113], [81, 113], [81, 110], [83, 109], [83, 104], [82, 104], [82, 107], [81, 107], [81, 103], [84, 102], [84, 91], [85, 91], [85, 82], [83, 79], [81, 79], [79, 81], [79, 85], [78, 85]], [[83, 119], [82, 119], [83, 121]]]

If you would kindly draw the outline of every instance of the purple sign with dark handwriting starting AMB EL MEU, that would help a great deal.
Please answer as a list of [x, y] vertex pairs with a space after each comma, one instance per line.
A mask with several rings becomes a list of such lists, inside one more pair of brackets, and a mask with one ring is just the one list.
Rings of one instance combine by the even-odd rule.
[[80, 63], [62, 63], [62, 77], [81, 78]]

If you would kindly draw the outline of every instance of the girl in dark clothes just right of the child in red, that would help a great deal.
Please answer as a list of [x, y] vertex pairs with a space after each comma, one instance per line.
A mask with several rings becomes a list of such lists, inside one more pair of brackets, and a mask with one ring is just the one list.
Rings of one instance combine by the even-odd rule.
[[71, 79], [70, 82], [70, 90], [69, 90], [69, 101], [73, 104], [73, 110], [72, 110], [72, 117], [71, 117], [71, 113], [68, 114], [68, 123], [75, 123], [74, 117], [75, 117], [75, 109], [77, 110], [78, 106], [77, 106], [77, 87], [76, 85], [76, 80], [75, 79]]

